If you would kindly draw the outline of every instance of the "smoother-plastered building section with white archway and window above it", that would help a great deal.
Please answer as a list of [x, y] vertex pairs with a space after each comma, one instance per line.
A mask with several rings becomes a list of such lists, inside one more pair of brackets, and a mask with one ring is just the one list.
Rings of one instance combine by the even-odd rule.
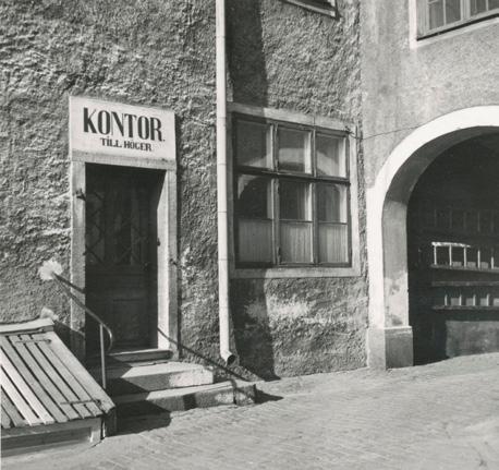
[[372, 365], [498, 348], [498, 7], [362, 5]]

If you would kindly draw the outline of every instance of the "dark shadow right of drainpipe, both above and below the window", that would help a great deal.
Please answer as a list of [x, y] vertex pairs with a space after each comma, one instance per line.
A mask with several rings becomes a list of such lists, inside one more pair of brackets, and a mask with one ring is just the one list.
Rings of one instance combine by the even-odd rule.
[[[228, 0], [227, 49], [232, 100], [265, 107], [268, 105], [268, 81], [261, 3], [261, 0]], [[275, 372], [264, 282], [232, 281], [230, 298], [238, 369], [245, 376], [251, 374], [267, 381], [279, 378]], [[252, 304], [245, 304], [243, 299], [252, 299]]]

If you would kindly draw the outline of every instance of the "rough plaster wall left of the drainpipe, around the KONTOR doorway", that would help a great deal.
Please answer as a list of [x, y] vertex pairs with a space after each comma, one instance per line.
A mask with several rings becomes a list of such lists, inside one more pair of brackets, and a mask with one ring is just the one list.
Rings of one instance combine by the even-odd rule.
[[68, 321], [36, 269], [69, 269], [68, 97], [88, 95], [177, 113], [182, 324], [216, 351], [214, 2], [12, 0], [0, 17], [1, 321]]

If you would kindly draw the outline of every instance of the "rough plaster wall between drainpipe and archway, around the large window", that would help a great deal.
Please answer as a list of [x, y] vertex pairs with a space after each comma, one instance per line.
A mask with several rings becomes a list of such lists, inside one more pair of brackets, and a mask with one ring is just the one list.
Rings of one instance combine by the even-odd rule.
[[[340, 1], [339, 13], [332, 20], [282, 1], [229, 0], [232, 99], [357, 122], [357, 1]], [[362, 182], [362, 161], [358, 168]], [[235, 345], [247, 371], [275, 377], [365, 364], [360, 190], [361, 277], [232, 281]]]

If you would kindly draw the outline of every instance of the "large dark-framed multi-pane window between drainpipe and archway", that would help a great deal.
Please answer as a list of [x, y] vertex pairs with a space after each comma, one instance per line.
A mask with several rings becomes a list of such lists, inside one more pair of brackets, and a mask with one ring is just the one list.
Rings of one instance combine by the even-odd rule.
[[234, 117], [235, 252], [240, 266], [349, 266], [344, 133]]

